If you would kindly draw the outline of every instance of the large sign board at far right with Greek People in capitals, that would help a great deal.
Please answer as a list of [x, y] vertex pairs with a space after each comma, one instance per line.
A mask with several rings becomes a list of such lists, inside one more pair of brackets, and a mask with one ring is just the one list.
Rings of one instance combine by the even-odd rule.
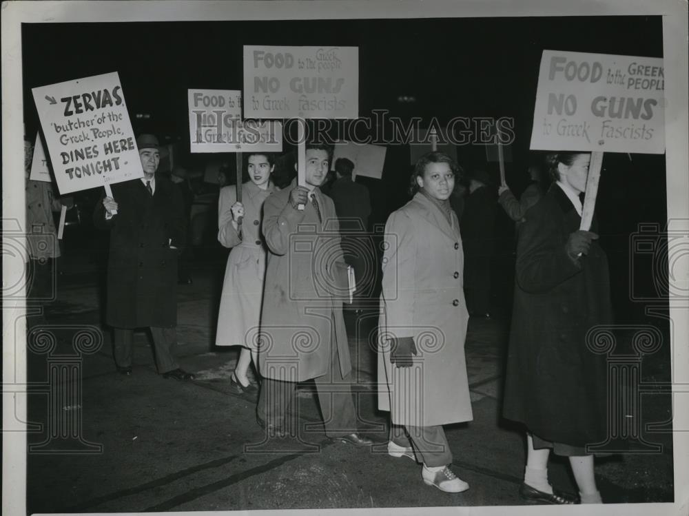
[[544, 50], [531, 149], [663, 154], [662, 58]]

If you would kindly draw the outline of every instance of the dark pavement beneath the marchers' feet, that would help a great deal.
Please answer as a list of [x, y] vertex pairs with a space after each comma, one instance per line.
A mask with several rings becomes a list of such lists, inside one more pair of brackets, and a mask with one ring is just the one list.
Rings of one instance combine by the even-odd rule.
[[[446, 426], [446, 434], [453, 471], [471, 488], [451, 495], [424, 485], [419, 464], [387, 455], [388, 415], [377, 410], [376, 353], [368, 338], [373, 311], [346, 319], [360, 426], [380, 444], [369, 449], [328, 440], [309, 382], [298, 391], [298, 435], [267, 440], [254, 402], [229, 389], [238, 351], [214, 346], [224, 268], [222, 256], [197, 258], [194, 282], [180, 286], [177, 356], [196, 380], [176, 382], [156, 373], [143, 331], [135, 336], [133, 374], [116, 373], [110, 331], [101, 325], [97, 267], [88, 254], [60, 259], [56, 299], [29, 318], [30, 328], [43, 327], [55, 342], [52, 351], [30, 346], [28, 357], [29, 420], [37, 424], [29, 433], [30, 513], [523, 504], [517, 489], [524, 436], [500, 415], [508, 309], [469, 322], [474, 418]], [[644, 422], [671, 419], [667, 394], [649, 393], [641, 403]], [[661, 449], [597, 460], [607, 503], [672, 501], [671, 433], [649, 433], [646, 425], [641, 432]], [[575, 491], [559, 457], [551, 458], [550, 479]]]

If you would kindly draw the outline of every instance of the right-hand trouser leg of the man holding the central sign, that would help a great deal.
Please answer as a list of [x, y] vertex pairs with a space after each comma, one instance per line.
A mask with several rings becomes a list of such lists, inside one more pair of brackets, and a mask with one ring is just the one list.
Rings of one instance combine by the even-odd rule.
[[340, 437], [348, 433], [356, 432], [356, 412], [351, 397], [351, 373], [342, 377], [340, 373], [340, 355], [334, 334], [331, 335], [331, 361], [328, 372], [318, 378], [316, 391], [318, 391], [318, 404], [323, 415], [325, 435], [328, 437]]

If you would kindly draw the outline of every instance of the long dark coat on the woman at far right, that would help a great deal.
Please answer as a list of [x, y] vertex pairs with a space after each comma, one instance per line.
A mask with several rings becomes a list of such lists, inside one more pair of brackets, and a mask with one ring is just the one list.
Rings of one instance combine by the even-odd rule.
[[603, 249], [594, 240], [576, 261], [565, 250], [580, 222], [553, 185], [520, 227], [503, 408], [538, 437], [570, 446], [604, 439], [606, 356], [586, 335], [612, 320]]

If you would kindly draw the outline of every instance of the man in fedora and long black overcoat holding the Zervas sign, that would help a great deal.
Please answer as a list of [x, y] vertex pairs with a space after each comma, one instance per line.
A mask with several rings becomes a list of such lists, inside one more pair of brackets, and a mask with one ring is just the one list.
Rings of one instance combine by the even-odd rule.
[[186, 220], [179, 190], [156, 176], [166, 149], [152, 134], [136, 138], [143, 178], [112, 185], [96, 206], [94, 224], [110, 229], [105, 321], [114, 329], [117, 371], [132, 374], [134, 329], [147, 327], [163, 378], [194, 380], [180, 369], [177, 342], [177, 262], [185, 247]]

